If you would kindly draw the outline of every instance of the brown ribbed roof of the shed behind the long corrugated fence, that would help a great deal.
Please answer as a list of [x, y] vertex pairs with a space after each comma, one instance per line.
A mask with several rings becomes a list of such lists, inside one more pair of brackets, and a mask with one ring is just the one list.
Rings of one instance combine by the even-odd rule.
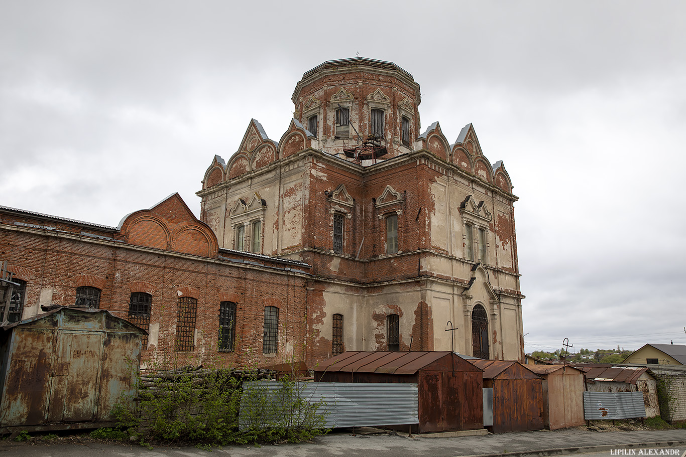
[[423, 367], [451, 354], [453, 354], [451, 351], [346, 351], [320, 363], [318, 367], [314, 368], [314, 371], [412, 375]]

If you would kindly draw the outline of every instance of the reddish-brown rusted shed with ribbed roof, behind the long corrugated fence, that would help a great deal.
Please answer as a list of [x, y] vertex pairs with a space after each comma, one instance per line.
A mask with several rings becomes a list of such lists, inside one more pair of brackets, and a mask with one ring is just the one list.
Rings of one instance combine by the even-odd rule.
[[484, 427], [482, 371], [450, 351], [347, 351], [315, 367], [314, 380], [416, 383], [419, 432]]

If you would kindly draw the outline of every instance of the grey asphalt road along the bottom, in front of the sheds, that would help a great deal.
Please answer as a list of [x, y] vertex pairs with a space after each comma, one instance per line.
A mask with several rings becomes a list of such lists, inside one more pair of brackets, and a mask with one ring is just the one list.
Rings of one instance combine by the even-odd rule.
[[[681, 457], [686, 451], [686, 430], [633, 430], [595, 432], [586, 428], [571, 430], [540, 430], [487, 436], [458, 438], [425, 438], [396, 434], [357, 434], [337, 432], [320, 436], [311, 443], [263, 445], [255, 447], [227, 446], [211, 451], [196, 447], [155, 447], [102, 443], [84, 439], [71, 443], [36, 441], [0, 443], [0, 457], [453, 457], [493, 456], [508, 454], [521, 456], [552, 456], [577, 452], [598, 455], [636, 455], [641, 449], [673, 449]], [[619, 452], [617, 452], [619, 449]], [[624, 449], [624, 452], [622, 452]], [[631, 451], [635, 454], [631, 454]], [[652, 454], [656, 455], [656, 454]], [[662, 454], [665, 455], [665, 454]], [[668, 454], [669, 455], [669, 454]]]

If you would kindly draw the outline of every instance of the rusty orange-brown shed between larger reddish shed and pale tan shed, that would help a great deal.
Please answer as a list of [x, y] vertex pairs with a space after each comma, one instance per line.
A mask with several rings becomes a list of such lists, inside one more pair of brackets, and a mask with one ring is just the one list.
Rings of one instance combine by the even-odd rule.
[[543, 428], [543, 379], [539, 375], [515, 361], [469, 362], [484, 371], [484, 390], [493, 388], [493, 423], [484, 424], [490, 432], [525, 432]]

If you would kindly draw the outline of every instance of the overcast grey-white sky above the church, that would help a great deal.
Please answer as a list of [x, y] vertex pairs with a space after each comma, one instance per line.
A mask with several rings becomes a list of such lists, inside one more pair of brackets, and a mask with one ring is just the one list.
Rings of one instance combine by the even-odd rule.
[[515, 203], [526, 351], [686, 344], [683, 1], [0, 0], [0, 205], [116, 226], [200, 181], [305, 71], [395, 62]]

